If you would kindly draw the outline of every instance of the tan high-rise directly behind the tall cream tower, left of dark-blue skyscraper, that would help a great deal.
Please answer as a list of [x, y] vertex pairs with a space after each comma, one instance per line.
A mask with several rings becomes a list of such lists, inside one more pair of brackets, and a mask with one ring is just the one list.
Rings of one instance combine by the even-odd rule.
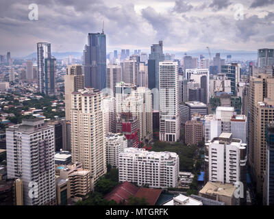
[[71, 120], [71, 93], [84, 89], [83, 66], [73, 64], [66, 67], [66, 75], [64, 75], [64, 103], [66, 120]]

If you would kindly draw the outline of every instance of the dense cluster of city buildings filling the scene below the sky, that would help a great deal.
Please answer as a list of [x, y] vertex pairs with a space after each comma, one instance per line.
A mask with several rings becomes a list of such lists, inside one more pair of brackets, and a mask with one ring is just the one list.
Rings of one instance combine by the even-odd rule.
[[42, 95], [64, 94], [65, 104], [65, 118], [23, 119], [5, 130], [1, 201], [68, 205], [94, 191], [110, 165], [119, 169], [121, 184], [105, 198], [117, 198], [123, 188], [134, 196], [148, 189], [155, 204], [160, 190], [188, 187], [194, 177], [179, 172], [177, 153], [148, 149], [154, 131], [171, 146], [204, 144], [199, 195], [178, 194], [164, 205], [246, 205], [247, 175], [263, 203], [274, 205], [273, 49], [258, 49], [258, 66], [250, 66], [247, 77], [240, 63], [220, 53], [213, 60], [176, 60], [159, 41], [149, 55], [128, 49], [107, 55], [105, 40], [103, 31], [88, 34], [83, 63], [65, 60], [62, 91], [51, 44], [38, 42], [37, 65], [27, 60], [16, 71], [10, 53], [1, 56], [10, 67], [0, 90], [19, 79], [36, 83]]

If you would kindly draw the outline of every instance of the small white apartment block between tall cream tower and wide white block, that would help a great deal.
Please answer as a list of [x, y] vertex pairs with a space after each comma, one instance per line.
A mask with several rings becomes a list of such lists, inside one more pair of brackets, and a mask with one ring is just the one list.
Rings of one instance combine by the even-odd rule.
[[118, 168], [119, 153], [127, 148], [127, 138], [122, 133], [107, 133], [105, 136], [105, 154], [107, 164]]

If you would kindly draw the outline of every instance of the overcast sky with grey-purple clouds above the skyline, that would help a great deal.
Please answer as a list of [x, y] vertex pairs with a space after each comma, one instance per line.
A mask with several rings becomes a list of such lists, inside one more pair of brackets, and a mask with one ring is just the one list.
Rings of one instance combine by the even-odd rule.
[[[81, 52], [88, 32], [100, 32], [103, 21], [108, 51], [149, 49], [158, 40], [173, 51], [274, 47], [274, 0], [0, 2], [0, 54], [17, 57], [36, 51], [37, 42], [51, 42], [55, 52]], [[38, 21], [28, 18], [31, 3], [38, 5]], [[239, 3], [243, 16], [236, 13]]]

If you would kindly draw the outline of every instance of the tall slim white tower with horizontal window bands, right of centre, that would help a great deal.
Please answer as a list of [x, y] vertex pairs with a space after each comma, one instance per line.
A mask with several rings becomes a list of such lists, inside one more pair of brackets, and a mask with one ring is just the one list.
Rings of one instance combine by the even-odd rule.
[[159, 62], [161, 141], [179, 140], [179, 77], [177, 62]]

